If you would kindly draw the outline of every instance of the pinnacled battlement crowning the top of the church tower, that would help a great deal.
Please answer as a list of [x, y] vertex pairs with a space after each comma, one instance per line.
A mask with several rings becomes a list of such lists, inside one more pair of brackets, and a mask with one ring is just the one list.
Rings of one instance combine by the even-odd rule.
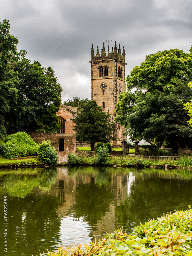
[[119, 60], [120, 62], [123, 62], [125, 64], [125, 50], [124, 50], [124, 46], [123, 46], [123, 52], [122, 52], [122, 55], [121, 55], [120, 44], [119, 44], [119, 49], [117, 50], [116, 41], [115, 41], [114, 50], [113, 50], [113, 47], [112, 47], [112, 51], [108, 52], [108, 55], [106, 55], [105, 45], [103, 43], [103, 48], [101, 50], [101, 54], [99, 53], [99, 47], [97, 47], [96, 55], [94, 55], [94, 49], [93, 49], [93, 45], [92, 45], [92, 48], [91, 48], [91, 61], [102, 61], [102, 60], [112, 60], [112, 59]]

